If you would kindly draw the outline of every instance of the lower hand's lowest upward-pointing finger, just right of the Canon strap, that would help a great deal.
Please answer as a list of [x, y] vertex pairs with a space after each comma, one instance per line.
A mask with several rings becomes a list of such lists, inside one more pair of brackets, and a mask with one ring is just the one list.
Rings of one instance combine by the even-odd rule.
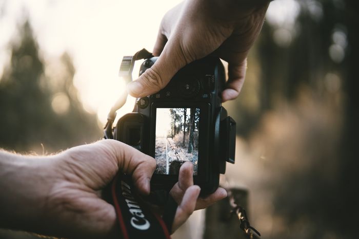
[[172, 224], [172, 232], [181, 226], [193, 213], [201, 188], [197, 185], [187, 188], [182, 203], [178, 205]]

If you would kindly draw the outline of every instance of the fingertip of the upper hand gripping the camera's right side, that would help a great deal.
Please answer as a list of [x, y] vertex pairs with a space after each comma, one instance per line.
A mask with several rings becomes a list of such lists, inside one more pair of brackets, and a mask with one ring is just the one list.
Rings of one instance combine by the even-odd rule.
[[222, 102], [235, 99], [241, 92], [246, 77], [247, 59], [240, 64], [228, 64], [228, 81], [222, 92]]

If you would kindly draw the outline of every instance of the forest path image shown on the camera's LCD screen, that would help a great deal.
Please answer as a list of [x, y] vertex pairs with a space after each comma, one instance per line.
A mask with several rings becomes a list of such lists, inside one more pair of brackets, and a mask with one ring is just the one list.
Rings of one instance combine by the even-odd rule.
[[197, 175], [199, 135], [200, 108], [157, 108], [155, 173], [178, 175], [181, 165], [190, 161]]

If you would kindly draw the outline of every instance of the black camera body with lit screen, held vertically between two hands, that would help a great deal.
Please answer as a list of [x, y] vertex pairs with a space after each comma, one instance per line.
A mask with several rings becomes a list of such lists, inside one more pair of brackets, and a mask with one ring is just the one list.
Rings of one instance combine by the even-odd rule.
[[[139, 75], [156, 59], [145, 59]], [[136, 99], [133, 112], [118, 120], [114, 139], [156, 159], [151, 189], [170, 190], [190, 161], [201, 194], [216, 190], [235, 153], [235, 121], [221, 104], [224, 87], [221, 60], [208, 56], [179, 70], [158, 93]]]

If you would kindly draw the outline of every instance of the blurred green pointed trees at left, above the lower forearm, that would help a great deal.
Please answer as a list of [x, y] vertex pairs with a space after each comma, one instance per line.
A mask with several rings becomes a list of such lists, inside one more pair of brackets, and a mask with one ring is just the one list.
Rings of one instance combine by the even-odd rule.
[[28, 21], [11, 46], [11, 61], [0, 79], [0, 147], [17, 151], [56, 151], [101, 136], [97, 118], [84, 111], [73, 86], [75, 69], [64, 54], [63, 77], [56, 87], [45, 76], [45, 64]]

